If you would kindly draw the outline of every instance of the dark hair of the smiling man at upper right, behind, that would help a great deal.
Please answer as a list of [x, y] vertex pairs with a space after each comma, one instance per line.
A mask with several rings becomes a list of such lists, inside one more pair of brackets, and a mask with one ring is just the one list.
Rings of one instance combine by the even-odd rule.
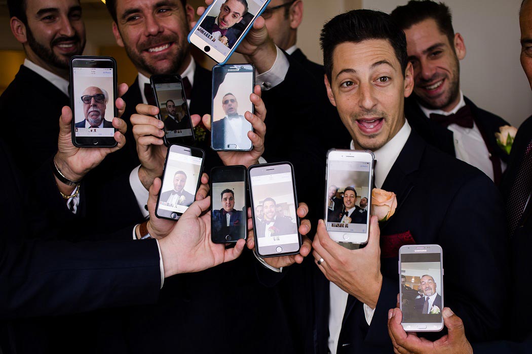
[[430, 0], [410, 0], [406, 5], [397, 6], [390, 15], [403, 31], [428, 19], [436, 21], [439, 31], [447, 36], [449, 44], [454, 50], [454, 29], [451, 10], [444, 3], [436, 3]]

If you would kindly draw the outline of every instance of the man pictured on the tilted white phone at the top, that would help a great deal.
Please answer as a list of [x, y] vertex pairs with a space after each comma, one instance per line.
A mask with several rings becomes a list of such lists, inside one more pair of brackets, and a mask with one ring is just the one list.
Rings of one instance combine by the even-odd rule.
[[205, 16], [201, 27], [231, 49], [240, 36], [232, 27], [242, 21], [246, 13], [246, 0], [226, 0], [220, 6], [218, 16]]

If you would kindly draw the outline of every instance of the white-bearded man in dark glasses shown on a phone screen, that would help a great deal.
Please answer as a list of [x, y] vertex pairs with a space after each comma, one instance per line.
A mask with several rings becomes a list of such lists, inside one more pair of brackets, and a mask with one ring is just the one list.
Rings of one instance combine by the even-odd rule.
[[77, 128], [112, 128], [113, 123], [105, 119], [109, 94], [104, 89], [89, 86], [81, 94], [85, 119], [74, 124]]

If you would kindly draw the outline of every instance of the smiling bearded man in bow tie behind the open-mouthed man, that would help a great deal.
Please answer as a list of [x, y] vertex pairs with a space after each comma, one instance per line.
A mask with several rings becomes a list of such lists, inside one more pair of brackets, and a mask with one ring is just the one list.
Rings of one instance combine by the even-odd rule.
[[414, 94], [405, 102], [409, 124], [429, 144], [500, 183], [508, 154], [497, 145], [495, 133], [509, 123], [463, 96], [459, 61], [465, 44], [454, 32], [450, 9], [412, 0], [395, 8], [392, 18], [406, 33], [414, 67]]

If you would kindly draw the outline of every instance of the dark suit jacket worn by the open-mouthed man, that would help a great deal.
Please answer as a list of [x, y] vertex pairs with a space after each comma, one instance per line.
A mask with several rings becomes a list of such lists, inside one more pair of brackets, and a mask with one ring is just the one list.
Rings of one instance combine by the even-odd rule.
[[[427, 145], [412, 132], [390, 169], [383, 189], [397, 194], [398, 206], [394, 216], [380, 225], [381, 240], [410, 231], [417, 244], [442, 246], [445, 305], [462, 318], [469, 340], [483, 341], [500, 336], [505, 291], [502, 281], [494, 282], [493, 276], [506, 274], [505, 223], [501, 197], [491, 180], [478, 169]], [[477, 205], [488, 207], [479, 209]], [[387, 313], [388, 309], [396, 307], [401, 286], [397, 262], [397, 255], [381, 257], [383, 284], [370, 326], [365, 320], [363, 304], [348, 297], [338, 353], [393, 351], [387, 331]], [[295, 314], [300, 316], [292, 327], [294, 337], [304, 343], [298, 349], [327, 353], [330, 283], [312, 257], [303, 263], [291, 266], [285, 275], [277, 275], [286, 278], [279, 287], [288, 288], [290, 293], [304, 294], [307, 303], [297, 305], [303, 301], [301, 297], [288, 300]], [[275, 278], [276, 274], [265, 276]], [[475, 282], [471, 288], [487, 286], [489, 289], [464, 292], [464, 282], [471, 280]], [[441, 333], [435, 336], [439, 335]], [[430, 334], [426, 336], [431, 338]]]

